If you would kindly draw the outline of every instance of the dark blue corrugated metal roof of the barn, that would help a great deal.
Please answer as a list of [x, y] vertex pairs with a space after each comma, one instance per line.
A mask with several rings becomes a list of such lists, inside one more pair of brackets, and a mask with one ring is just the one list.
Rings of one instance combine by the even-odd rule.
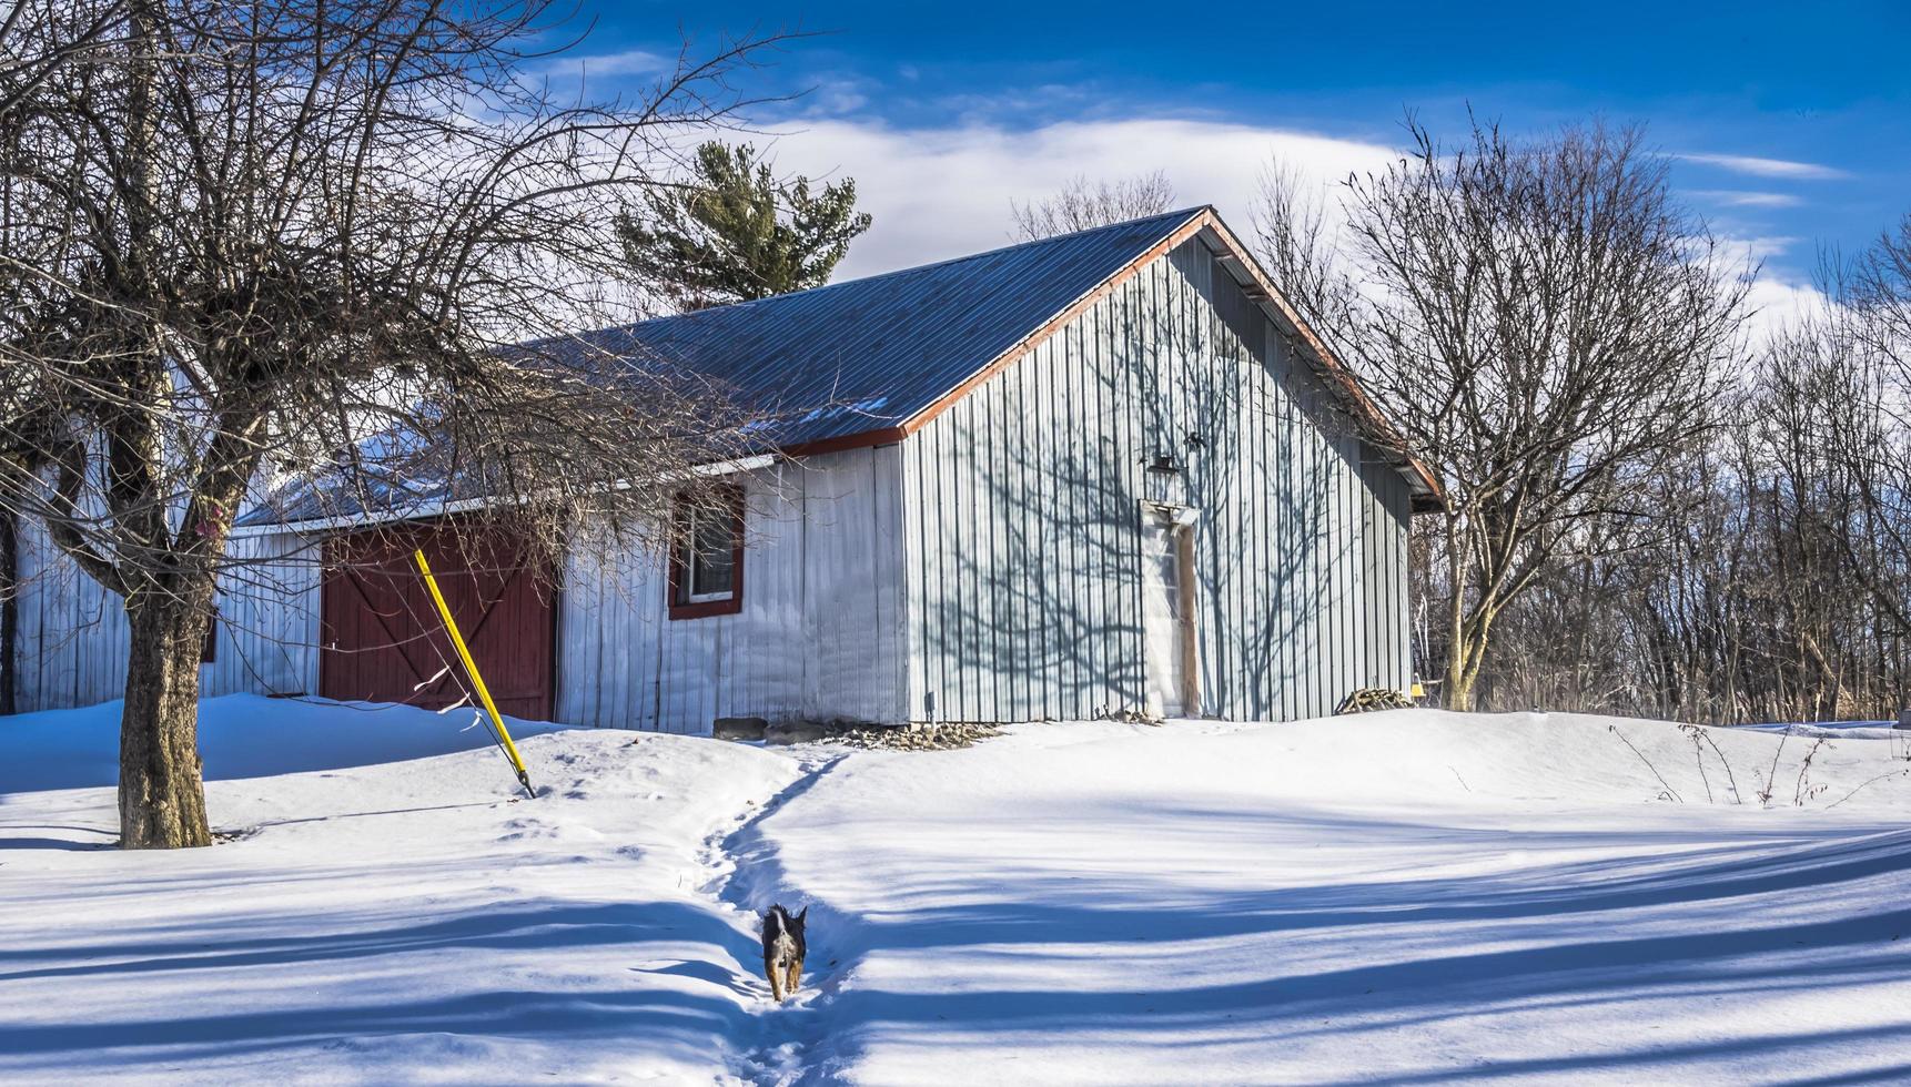
[[[1011, 245], [975, 256], [908, 267], [868, 279], [831, 283], [759, 302], [655, 317], [636, 325], [526, 344], [560, 367], [604, 373], [631, 369], [690, 371], [726, 388], [762, 422], [759, 449], [801, 451], [820, 443], [883, 441], [948, 394], [999, 363], [1122, 269], [1135, 266], [1170, 237], [1219, 231], [1212, 208], [1185, 208], [1072, 235]], [[1252, 260], [1240, 256], [1240, 260]], [[1248, 269], [1259, 277], [1257, 269]], [[1265, 287], [1265, 294], [1273, 287]], [[1280, 313], [1286, 313], [1282, 308]], [[1292, 315], [1288, 315], [1292, 319]], [[1355, 416], [1385, 432], [1385, 422], [1353, 378], [1315, 340], [1311, 363], [1334, 378]], [[606, 373], [610, 380], [610, 374]], [[1387, 443], [1391, 445], [1391, 443]], [[1405, 460], [1416, 493], [1437, 493], [1431, 474]], [[420, 516], [470, 499], [457, 481], [357, 480], [294, 483], [239, 518], [266, 525], [333, 516]], [[371, 499], [346, 499], [346, 491]], [[365, 504], [378, 508], [367, 510]]]

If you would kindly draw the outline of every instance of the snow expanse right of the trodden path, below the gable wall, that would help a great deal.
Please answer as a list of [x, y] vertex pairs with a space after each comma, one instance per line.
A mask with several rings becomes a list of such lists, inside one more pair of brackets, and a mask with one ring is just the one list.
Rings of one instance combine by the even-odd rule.
[[1426, 711], [847, 758], [743, 848], [841, 961], [766, 1056], [885, 1085], [1911, 1076], [1911, 781], [1825, 810], [1903, 745], [1817, 751], [1794, 808], [1808, 741], [1707, 739], [1705, 778], [1661, 722]]

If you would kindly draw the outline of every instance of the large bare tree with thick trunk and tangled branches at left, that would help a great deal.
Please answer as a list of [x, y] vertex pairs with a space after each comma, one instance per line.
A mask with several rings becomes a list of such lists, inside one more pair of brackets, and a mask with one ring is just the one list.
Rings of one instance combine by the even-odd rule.
[[589, 103], [531, 75], [541, 0], [34, 2], [113, 48], [0, 69], [0, 502], [124, 602], [122, 844], [206, 844], [199, 648], [264, 487], [482, 499], [554, 552], [743, 443], [724, 390], [575, 330], [629, 315], [615, 212], [764, 40]]

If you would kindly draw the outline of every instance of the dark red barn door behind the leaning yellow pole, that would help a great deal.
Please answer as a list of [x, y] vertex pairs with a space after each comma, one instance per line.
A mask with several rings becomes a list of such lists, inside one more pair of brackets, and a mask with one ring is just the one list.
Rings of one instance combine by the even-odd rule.
[[424, 579], [470, 646], [499, 713], [550, 720], [556, 692], [556, 577], [524, 541], [470, 522], [407, 525], [327, 544], [319, 693], [334, 699], [447, 707], [466, 692], [457, 650]]

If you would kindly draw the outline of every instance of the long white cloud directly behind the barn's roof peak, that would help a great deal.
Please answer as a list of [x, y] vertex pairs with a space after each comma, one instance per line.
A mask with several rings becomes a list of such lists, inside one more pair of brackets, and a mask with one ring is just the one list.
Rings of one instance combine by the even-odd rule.
[[1397, 159], [1378, 143], [1212, 120], [1070, 120], [1026, 132], [816, 120], [780, 130], [774, 153], [780, 172], [856, 178], [856, 202], [875, 225], [850, 246], [841, 279], [1009, 245], [1009, 201], [1047, 197], [1076, 174], [1162, 170], [1177, 204], [1215, 204], [1246, 231], [1269, 155], [1322, 185]]

